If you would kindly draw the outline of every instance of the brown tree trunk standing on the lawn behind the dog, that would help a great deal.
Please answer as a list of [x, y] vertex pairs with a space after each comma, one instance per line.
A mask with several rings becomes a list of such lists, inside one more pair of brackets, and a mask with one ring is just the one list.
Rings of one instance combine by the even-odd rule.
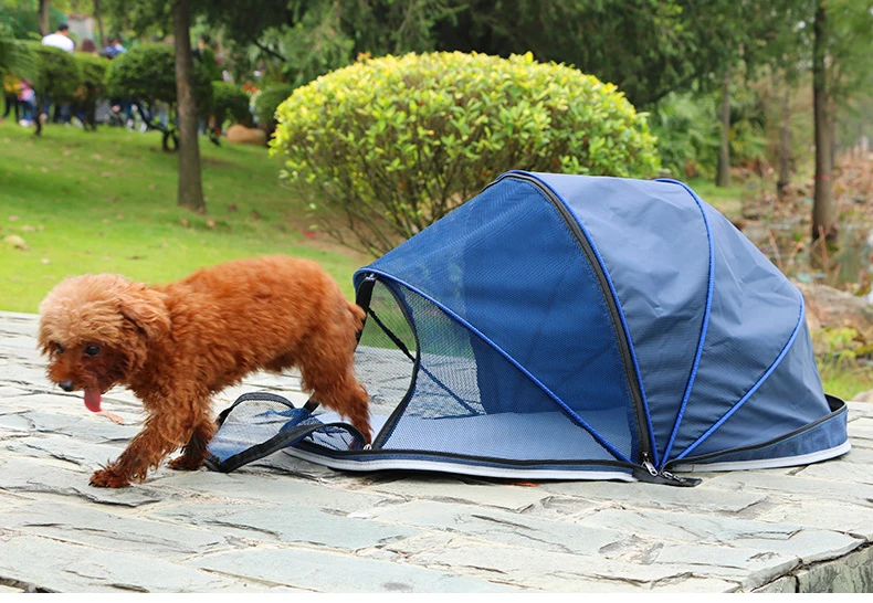
[[179, 198], [178, 204], [204, 212], [203, 184], [200, 179], [200, 147], [197, 139], [197, 99], [194, 64], [191, 55], [190, 0], [176, 0], [172, 28], [176, 38], [176, 96], [179, 116]]

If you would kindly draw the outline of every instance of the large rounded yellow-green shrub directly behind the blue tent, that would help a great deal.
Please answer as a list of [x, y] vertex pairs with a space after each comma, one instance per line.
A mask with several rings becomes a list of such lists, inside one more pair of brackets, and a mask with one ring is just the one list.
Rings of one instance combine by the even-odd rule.
[[316, 218], [382, 253], [511, 169], [648, 177], [655, 139], [616, 86], [530, 54], [362, 61], [297, 88], [271, 146]]

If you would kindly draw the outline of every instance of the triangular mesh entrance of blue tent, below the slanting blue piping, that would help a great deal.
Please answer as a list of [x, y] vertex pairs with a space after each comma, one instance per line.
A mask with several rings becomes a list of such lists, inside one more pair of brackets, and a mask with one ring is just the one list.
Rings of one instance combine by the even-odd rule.
[[[392, 295], [381, 282], [374, 288], [356, 366], [374, 400], [374, 414], [396, 410], [412, 383], [417, 340], [404, 315], [414, 325], [421, 362], [412, 394], [396, 423], [389, 422], [378, 438], [382, 448], [514, 461], [614, 459], [478, 336], [414, 292], [397, 285]], [[398, 350], [379, 322], [413, 359]], [[627, 430], [624, 410], [612, 413], [617, 416], [600, 417], [601, 422]], [[379, 422], [375, 417], [374, 423]]]

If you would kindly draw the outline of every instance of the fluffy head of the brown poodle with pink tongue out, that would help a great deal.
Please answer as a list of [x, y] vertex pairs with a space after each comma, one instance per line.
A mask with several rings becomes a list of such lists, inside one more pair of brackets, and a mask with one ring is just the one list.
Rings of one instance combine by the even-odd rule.
[[101, 394], [128, 383], [143, 368], [149, 342], [170, 329], [164, 294], [113, 274], [62, 281], [40, 304], [40, 350], [49, 379], [84, 390], [99, 411]]

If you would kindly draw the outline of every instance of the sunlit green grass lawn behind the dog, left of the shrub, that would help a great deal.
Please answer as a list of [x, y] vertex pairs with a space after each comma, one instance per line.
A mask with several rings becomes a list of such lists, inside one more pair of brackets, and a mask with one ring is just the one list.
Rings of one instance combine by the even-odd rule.
[[[367, 256], [309, 232], [265, 148], [201, 138], [207, 213], [176, 205], [175, 155], [158, 133], [0, 124], [0, 309], [35, 313], [67, 275], [113, 272], [162, 283], [220, 262], [286, 253], [319, 262], [354, 298]], [[20, 236], [29, 247], [3, 239]]]

